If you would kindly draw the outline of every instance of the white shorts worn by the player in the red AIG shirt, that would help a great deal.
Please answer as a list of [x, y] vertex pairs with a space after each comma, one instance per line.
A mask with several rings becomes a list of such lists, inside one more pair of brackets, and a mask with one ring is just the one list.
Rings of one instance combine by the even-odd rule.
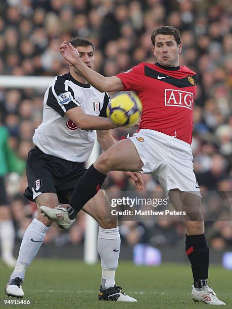
[[129, 139], [144, 163], [143, 172], [152, 174], [166, 193], [179, 189], [201, 196], [190, 144], [149, 129], [141, 129]]

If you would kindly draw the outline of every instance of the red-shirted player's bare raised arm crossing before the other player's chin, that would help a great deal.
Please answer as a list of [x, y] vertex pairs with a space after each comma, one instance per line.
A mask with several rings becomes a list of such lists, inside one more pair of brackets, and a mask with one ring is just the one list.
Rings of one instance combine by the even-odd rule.
[[67, 44], [64, 41], [60, 46], [60, 53], [64, 59], [72, 64], [80, 74], [96, 89], [101, 92], [121, 91], [123, 84], [117, 76], [105, 77], [90, 68], [88, 68], [80, 59], [80, 55], [71, 43]]

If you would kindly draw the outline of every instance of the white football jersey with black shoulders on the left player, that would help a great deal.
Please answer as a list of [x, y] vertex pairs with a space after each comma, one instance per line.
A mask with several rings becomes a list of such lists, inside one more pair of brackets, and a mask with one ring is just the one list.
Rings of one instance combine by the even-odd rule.
[[65, 113], [80, 106], [85, 114], [106, 117], [108, 102], [107, 93], [76, 81], [70, 73], [57, 76], [44, 94], [43, 119], [33, 143], [47, 155], [85, 162], [94, 147], [96, 131], [80, 130]]

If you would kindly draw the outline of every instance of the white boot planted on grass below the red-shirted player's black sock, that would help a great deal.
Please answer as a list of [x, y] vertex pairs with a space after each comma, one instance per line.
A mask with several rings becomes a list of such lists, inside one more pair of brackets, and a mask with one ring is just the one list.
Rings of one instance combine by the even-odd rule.
[[194, 285], [192, 285], [192, 288], [191, 296], [195, 302], [200, 301], [217, 306], [225, 305], [223, 301], [217, 298], [216, 293], [208, 285], [203, 286], [199, 291], [195, 289]]

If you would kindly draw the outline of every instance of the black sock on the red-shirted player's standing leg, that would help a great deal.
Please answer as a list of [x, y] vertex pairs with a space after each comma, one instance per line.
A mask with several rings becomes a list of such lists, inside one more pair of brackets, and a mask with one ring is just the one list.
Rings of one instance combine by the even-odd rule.
[[194, 287], [201, 288], [207, 285], [209, 271], [209, 248], [207, 247], [205, 234], [186, 235], [185, 251], [190, 260]]

